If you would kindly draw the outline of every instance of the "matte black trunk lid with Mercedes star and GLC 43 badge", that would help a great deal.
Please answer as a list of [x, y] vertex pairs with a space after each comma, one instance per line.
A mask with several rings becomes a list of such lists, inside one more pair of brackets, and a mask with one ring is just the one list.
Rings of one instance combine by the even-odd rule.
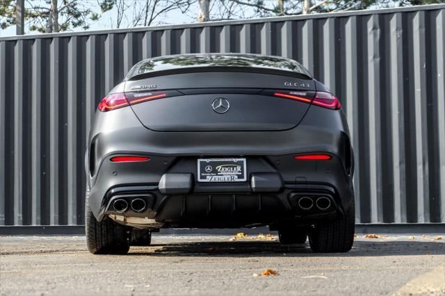
[[315, 85], [309, 79], [239, 72], [173, 74], [125, 85], [129, 101], [138, 100], [131, 106], [134, 113], [154, 131], [292, 129], [310, 104], [276, 97], [276, 90], [297, 92], [310, 103]]

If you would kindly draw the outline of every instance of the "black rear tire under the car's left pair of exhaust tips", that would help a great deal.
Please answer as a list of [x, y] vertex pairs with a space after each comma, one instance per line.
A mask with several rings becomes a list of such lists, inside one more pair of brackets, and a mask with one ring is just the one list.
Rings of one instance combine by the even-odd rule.
[[98, 222], [88, 201], [89, 189], [85, 199], [85, 233], [88, 251], [92, 254], [127, 254], [130, 249], [131, 231], [110, 218]]

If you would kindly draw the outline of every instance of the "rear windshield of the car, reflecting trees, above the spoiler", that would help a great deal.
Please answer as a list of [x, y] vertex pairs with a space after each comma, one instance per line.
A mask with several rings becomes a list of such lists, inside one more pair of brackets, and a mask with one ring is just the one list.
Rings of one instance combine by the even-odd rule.
[[[193, 68], [227, 69], [228, 67], [253, 68], [292, 72], [311, 77], [307, 69], [295, 60], [277, 56], [261, 56], [256, 54], [185, 54], [179, 56], [161, 56], [149, 58], [137, 63], [127, 74], [125, 80], [135, 76], [145, 76], [153, 72], [170, 72]], [[170, 70], [170, 71], [168, 71]]]

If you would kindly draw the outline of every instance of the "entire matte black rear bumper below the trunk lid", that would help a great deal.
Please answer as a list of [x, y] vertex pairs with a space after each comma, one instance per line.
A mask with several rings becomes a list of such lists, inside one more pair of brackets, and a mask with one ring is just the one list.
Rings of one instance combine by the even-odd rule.
[[[118, 194], [149, 197], [151, 208], [123, 216], [149, 218], [164, 227], [310, 222], [330, 214], [300, 213], [292, 200], [300, 193], [329, 195], [336, 215], [353, 201], [353, 154], [340, 110], [312, 106], [298, 127], [287, 131], [156, 132], [143, 127], [128, 109], [107, 115], [116, 120], [105, 120], [99, 113], [91, 131], [86, 171], [90, 207], [97, 220], [116, 214], [111, 202]], [[127, 120], [118, 120], [122, 117]], [[293, 158], [307, 153], [330, 154], [332, 159]], [[122, 154], [148, 156], [150, 160], [110, 161]], [[197, 158], [210, 157], [246, 158], [248, 181], [220, 185], [198, 182]], [[252, 186], [252, 176], [264, 173], [279, 176], [281, 185]], [[190, 186], [186, 191], [165, 191], [159, 185], [164, 174], [190, 174]]]

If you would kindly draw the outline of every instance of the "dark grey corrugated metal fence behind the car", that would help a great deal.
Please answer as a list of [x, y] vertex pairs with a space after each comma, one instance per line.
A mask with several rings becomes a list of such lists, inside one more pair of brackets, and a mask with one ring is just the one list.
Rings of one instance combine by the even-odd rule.
[[445, 5], [0, 39], [0, 225], [83, 224], [99, 99], [143, 58], [300, 60], [341, 99], [357, 222], [445, 222]]

